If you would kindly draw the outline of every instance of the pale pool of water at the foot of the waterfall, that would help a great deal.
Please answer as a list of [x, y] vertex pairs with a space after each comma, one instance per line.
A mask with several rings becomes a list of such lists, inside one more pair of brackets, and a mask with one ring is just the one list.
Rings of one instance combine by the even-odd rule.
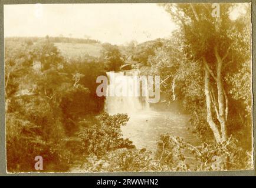
[[122, 127], [124, 138], [129, 138], [138, 148], [155, 150], [156, 141], [163, 133], [182, 137], [185, 142], [196, 143], [197, 138], [189, 127], [189, 115], [156, 110], [141, 110], [129, 114], [129, 121]]

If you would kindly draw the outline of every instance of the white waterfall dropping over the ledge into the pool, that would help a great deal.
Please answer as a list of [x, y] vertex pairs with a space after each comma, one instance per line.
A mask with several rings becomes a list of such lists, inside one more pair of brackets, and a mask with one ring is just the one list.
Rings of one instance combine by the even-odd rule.
[[[111, 77], [114, 75], [113, 77]], [[107, 113], [137, 113], [140, 110], [149, 110], [148, 90], [146, 96], [142, 96], [142, 85], [136, 85], [139, 78], [139, 70], [123, 70], [120, 72], [107, 72], [109, 85], [107, 86], [107, 95], [105, 100], [105, 110]], [[122, 78], [122, 79], [120, 79]], [[111, 80], [112, 79], [112, 80]], [[119, 81], [119, 82], [118, 82]], [[125, 81], [125, 82], [124, 82]], [[145, 79], [147, 87], [147, 80]], [[120, 86], [122, 83], [122, 86]], [[139, 82], [141, 83], [141, 82]], [[119, 90], [120, 93], [127, 95], [111, 96], [110, 90]], [[138, 92], [135, 95], [136, 91]]]

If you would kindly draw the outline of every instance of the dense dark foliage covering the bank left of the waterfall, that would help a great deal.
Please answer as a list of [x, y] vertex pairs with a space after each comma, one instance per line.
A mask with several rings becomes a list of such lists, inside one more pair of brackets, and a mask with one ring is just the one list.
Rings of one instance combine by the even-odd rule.
[[33, 170], [37, 155], [44, 157], [47, 171], [68, 169], [71, 155], [64, 148], [69, 137], [80, 129], [79, 121], [104, 107], [94, 83], [101, 73], [99, 63], [87, 59], [64, 62], [47, 38], [36, 43], [6, 41], [9, 171]]

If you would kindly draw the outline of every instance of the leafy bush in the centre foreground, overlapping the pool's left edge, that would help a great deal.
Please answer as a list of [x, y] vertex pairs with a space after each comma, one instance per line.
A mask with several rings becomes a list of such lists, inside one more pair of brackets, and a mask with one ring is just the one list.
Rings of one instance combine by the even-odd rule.
[[97, 157], [120, 148], [133, 148], [132, 142], [122, 138], [121, 126], [126, 125], [129, 117], [126, 114], [110, 116], [101, 114], [97, 122], [89, 127], [83, 127], [78, 133], [85, 155], [94, 154]]

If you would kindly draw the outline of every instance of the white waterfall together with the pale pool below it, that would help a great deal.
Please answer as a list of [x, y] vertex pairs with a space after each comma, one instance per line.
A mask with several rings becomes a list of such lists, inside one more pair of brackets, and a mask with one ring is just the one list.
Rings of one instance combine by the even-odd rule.
[[[142, 79], [143, 76], [140, 76], [139, 70], [107, 72], [107, 77], [105, 111], [110, 115], [128, 114], [129, 121], [126, 126], [121, 127], [122, 135], [131, 140], [137, 148], [145, 147], [155, 150], [156, 140], [159, 140], [159, 136], [163, 133], [172, 133], [193, 143], [195, 136], [186, 129], [189, 120], [188, 115], [175, 113], [174, 110], [173, 112], [172, 110], [157, 110], [153, 106], [152, 109], [149, 108], [150, 83], [147, 83], [148, 79]], [[136, 85], [136, 79], [133, 78], [142, 79], [139, 82], [139, 88]], [[147, 87], [148, 85], [149, 87]], [[136, 91], [139, 95], [128, 95], [129, 93], [134, 94]], [[118, 93], [127, 95], [116, 96]]]

